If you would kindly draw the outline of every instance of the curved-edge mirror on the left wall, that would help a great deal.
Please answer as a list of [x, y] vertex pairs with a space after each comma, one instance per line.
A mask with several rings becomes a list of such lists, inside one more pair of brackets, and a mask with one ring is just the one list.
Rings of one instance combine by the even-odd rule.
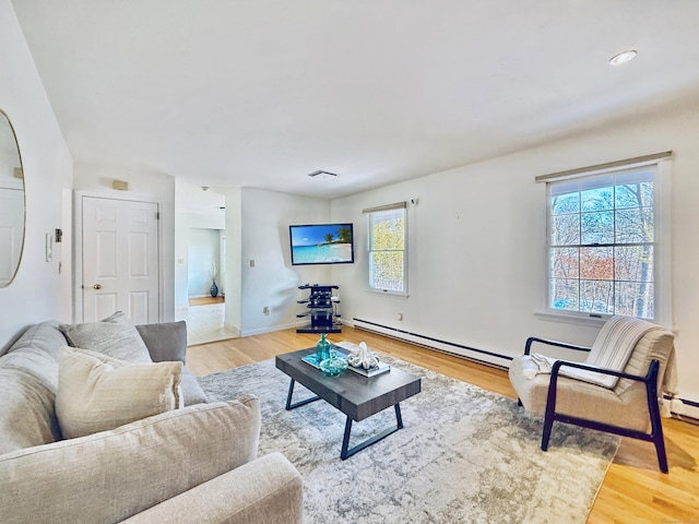
[[24, 246], [24, 168], [14, 129], [0, 109], [0, 287], [10, 285]]

